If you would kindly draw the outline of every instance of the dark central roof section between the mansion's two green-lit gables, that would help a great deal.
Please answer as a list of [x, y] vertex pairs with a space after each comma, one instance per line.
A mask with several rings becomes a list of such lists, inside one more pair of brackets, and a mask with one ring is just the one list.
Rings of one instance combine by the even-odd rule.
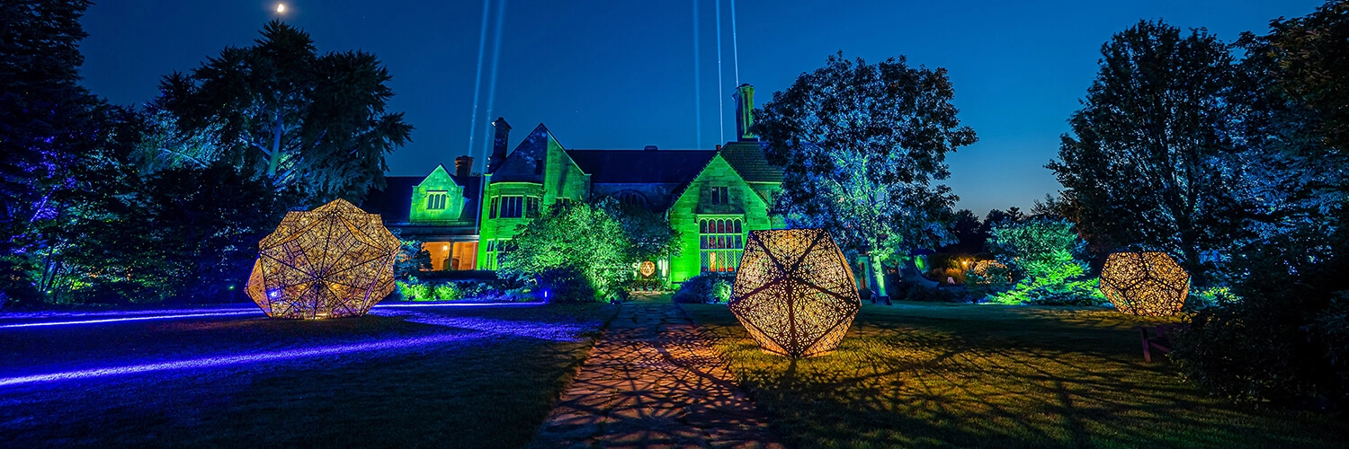
[[592, 183], [687, 183], [716, 155], [710, 150], [567, 150]]

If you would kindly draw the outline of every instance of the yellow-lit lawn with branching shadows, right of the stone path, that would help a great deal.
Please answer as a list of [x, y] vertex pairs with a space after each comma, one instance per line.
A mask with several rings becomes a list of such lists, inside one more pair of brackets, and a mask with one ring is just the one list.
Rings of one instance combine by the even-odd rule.
[[[1206, 396], [1095, 307], [865, 305], [839, 351], [768, 355], [724, 305], [681, 305], [793, 446], [1342, 448], [1342, 417]], [[1156, 359], [1153, 359], [1156, 360]]]

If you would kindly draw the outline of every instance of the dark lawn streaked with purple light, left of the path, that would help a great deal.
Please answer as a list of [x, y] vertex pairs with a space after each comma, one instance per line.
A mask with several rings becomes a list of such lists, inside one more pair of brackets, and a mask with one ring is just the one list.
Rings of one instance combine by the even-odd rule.
[[533, 437], [615, 310], [418, 307], [309, 322], [232, 317], [0, 329], [3, 379], [463, 337], [389, 351], [0, 386], [0, 446], [518, 448]]

